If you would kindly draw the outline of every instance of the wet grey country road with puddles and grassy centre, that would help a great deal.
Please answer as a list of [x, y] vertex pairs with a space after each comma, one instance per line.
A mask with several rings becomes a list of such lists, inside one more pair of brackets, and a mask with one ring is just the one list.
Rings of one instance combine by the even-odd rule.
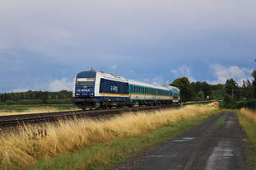
[[116, 170], [246, 169], [245, 138], [236, 113], [221, 113]]

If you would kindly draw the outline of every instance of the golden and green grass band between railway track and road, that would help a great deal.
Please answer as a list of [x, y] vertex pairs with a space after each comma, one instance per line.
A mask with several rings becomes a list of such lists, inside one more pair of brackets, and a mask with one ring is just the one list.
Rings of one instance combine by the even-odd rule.
[[75, 118], [21, 126], [0, 136], [0, 169], [110, 168], [218, 112], [211, 103], [98, 121]]

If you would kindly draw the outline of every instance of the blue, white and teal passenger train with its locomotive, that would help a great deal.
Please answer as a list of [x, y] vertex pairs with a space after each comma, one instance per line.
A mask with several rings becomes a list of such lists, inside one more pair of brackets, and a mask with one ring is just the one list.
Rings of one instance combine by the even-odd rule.
[[72, 102], [82, 109], [172, 104], [180, 102], [180, 91], [91, 69], [74, 78]]

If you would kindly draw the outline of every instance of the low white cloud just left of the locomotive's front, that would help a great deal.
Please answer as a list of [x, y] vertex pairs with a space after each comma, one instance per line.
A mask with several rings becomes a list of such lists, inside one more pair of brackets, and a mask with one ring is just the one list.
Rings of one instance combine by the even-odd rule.
[[60, 91], [60, 90], [72, 90], [73, 82], [67, 80], [67, 78], [63, 77], [62, 79], [58, 80], [55, 79], [49, 83], [48, 90], [49, 91]]

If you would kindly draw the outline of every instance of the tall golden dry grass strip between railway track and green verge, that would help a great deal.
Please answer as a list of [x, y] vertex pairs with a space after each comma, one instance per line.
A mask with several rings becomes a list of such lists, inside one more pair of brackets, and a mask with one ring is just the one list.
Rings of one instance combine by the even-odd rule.
[[127, 113], [109, 120], [74, 119], [44, 126], [23, 126], [15, 133], [0, 136], [0, 163], [4, 169], [14, 168], [17, 164], [50, 159], [95, 143], [137, 136], [213, 110], [216, 104], [191, 105], [151, 113]]

